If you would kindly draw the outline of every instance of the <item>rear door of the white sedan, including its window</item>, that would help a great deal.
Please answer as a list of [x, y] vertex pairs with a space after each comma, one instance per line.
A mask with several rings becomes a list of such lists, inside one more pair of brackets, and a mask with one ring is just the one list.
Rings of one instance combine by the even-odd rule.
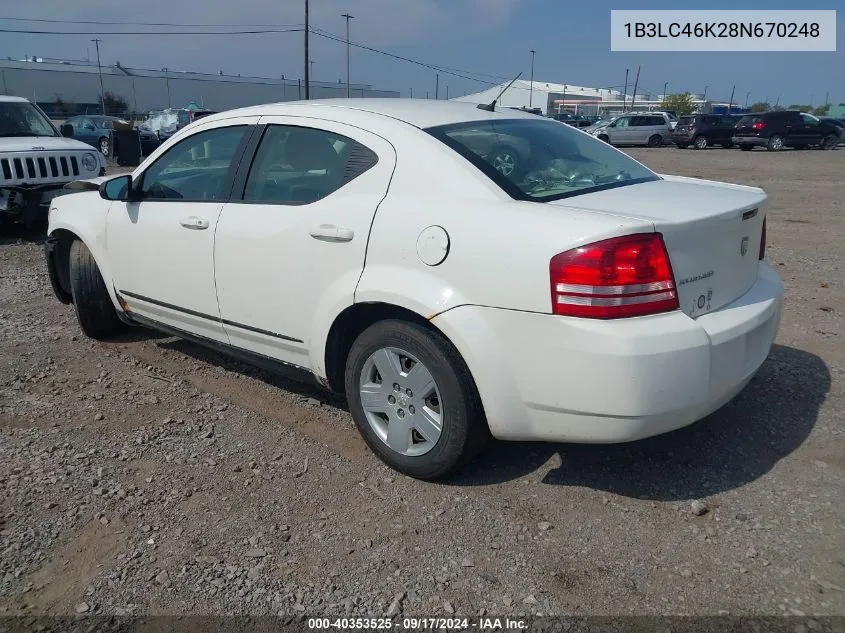
[[354, 301], [395, 151], [340, 123], [274, 116], [261, 124], [249, 173], [217, 226], [220, 312], [232, 345], [313, 368], [315, 316]]

